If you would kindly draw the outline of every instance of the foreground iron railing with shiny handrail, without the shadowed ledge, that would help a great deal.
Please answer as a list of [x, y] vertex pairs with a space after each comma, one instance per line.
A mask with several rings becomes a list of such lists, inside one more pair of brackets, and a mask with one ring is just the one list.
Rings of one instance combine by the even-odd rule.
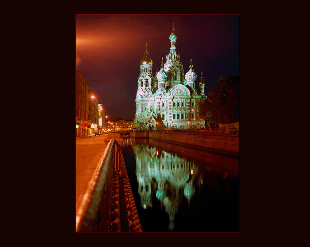
[[121, 157], [121, 147], [112, 139], [76, 204], [76, 232], [111, 231], [113, 170], [119, 170]]

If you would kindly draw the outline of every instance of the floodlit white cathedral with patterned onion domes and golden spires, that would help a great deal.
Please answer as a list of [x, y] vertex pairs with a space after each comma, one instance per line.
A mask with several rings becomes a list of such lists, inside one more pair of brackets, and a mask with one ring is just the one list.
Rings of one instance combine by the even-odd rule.
[[134, 127], [146, 129], [188, 129], [205, 128], [204, 119], [198, 117], [198, 105], [204, 94], [204, 80], [201, 72], [200, 94], [195, 89], [197, 74], [193, 69], [192, 59], [185, 74], [180, 54], [176, 51], [174, 24], [169, 36], [171, 47], [166, 55], [166, 63], [152, 74], [153, 61], [145, 47], [144, 57], [140, 60], [140, 75], [135, 98], [136, 113]]

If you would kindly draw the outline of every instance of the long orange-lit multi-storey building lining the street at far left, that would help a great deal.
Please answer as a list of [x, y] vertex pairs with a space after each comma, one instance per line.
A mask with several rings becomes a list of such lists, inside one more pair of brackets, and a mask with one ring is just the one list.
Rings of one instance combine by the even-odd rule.
[[99, 126], [98, 99], [82, 71], [76, 70], [75, 80], [75, 135], [95, 134]]

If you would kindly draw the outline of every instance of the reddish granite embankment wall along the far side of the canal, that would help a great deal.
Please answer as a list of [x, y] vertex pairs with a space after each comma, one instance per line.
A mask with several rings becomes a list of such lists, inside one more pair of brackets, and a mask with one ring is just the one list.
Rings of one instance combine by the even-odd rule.
[[239, 135], [199, 134], [199, 133], [168, 133], [168, 132], [132, 132], [134, 138], [150, 138], [201, 147], [210, 150], [239, 153]]

